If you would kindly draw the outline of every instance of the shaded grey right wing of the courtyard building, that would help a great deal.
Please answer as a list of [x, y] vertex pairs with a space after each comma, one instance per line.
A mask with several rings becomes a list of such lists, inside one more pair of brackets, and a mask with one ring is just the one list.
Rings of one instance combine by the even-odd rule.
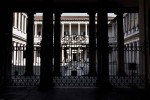
[[[110, 43], [111, 53], [109, 54], [110, 69], [111, 65], [116, 66], [114, 70], [118, 70], [118, 26], [117, 17], [111, 21], [112, 33], [114, 35], [113, 41]], [[140, 52], [142, 48], [139, 46], [139, 18], [138, 13], [124, 13], [123, 14], [123, 36], [124, 36], [124, 71], [126, 74], [134, 72], [134, 74], [143, 74], [143, 69], [141, 67], [142, 61], [140, 62]], [[113, 58], [112, 58], [113, 57]], [[111, 59], [112, 58], [112, 59]], [[130, 64], [134, 63], [133, 70], [129, 68]], [[132, 65], [133, 66], [133, 65]], [[117, 74], [117, 71], [113, 71]]]

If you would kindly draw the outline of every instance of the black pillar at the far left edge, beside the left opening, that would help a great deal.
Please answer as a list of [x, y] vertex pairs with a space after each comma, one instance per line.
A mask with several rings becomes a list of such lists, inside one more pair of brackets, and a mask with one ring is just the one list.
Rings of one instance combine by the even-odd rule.
[[11, 75], [13, 12], [7, 8], [1, 8], [0, 11], [0, 88], [4, 88]]

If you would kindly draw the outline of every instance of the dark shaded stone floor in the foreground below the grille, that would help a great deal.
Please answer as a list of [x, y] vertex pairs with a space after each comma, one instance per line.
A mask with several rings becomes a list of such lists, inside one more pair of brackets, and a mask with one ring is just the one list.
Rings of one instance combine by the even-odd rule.
[[39, 91], [37, 87], [7, 87], [0, 100], [150, 100], [145, 90], [112, 89], [104, 92], [97, 88], [52, 88]]

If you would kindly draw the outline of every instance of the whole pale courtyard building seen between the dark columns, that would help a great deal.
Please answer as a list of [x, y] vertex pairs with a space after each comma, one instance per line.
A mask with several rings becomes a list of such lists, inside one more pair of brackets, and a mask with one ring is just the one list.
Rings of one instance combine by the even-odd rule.
[[[27, 40], [27, 14], [14, 13], [13, 22], [13, 52], [12, 63], [17, 66], [25, 66], [25, 50]], [[97, 18], [95, 18], [97, 19]], [[53, 22], [54, 29], [55, 22]], [[95, 21], [97, 30], [97, 21]], [[136, 63], [139, 66], [139, 27], [138, 13], [125, 13], [123, 17], [124, 32], [124, 63]], [[40, 66], [40, 44], [42, 40], [42, 16], [34, 16], [34, 66]], [[53, 33], [54, 34], [54, 33]], [[109, 54], [110, 74], [117, 74], [117, 17], [108, 17], [109, 46], [112, 48]], [[61, 16], [61, 73], [71, 75], [71, 71], [77, 71], [77, 75], [88, 75], [89, 72], [89, 18], [88, 16]], [[96, 59], [96, 58], [95, 58]], [[97, 65], [97, 64], [96, 64]], [[112, 65], [116, 66], [111, 72]], [[18, 68], [19, 69], [19, 68]], [[83, 70], [84, 69], [84, 70]], [[25, 69], [24, 69], [25, 70]], [[13, 73], [13, 72], [12, 72]], [[36, 73], [36, 72], [34, 72]], [[21, 73], [20, 73], [21, 74]], [[23, 74], [23, 73], [22, 73]], [[38, 71], [38, 74], [40, 72]]]

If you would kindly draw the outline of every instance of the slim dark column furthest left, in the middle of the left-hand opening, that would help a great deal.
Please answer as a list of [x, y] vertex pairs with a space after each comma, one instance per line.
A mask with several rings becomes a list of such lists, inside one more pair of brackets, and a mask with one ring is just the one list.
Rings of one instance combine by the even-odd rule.
[[28, 23], [27, 23], [27, 46], [26, 46], [26, 76], [33, 75], [33, 24], [34, 24], [34, 13], [27, 12]]

